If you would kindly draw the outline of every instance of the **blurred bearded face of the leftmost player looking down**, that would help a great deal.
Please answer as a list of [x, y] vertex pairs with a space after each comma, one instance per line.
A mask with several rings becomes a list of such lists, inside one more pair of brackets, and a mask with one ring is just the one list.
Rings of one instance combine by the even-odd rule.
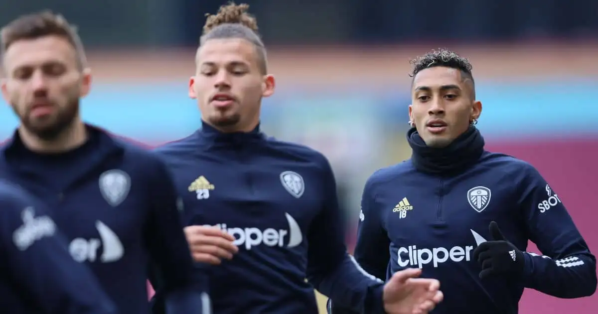
[[60, 36], [21, 39], [8, 47], [2, 96], [26, 130], [53, 139], [75, 121], [91, 81], [77, 65], [75, 48]]

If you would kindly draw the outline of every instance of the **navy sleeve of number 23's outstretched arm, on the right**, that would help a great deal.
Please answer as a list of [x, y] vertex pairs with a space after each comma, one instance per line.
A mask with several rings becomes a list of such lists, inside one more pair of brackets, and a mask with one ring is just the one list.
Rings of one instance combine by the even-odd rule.
[[308, 231], [307, 278], [339, 306], [359, 313], [385, 313], [383, 282], [365, 272], [347, 253], [334, 174], [327, 160], [324, 164], [327, 200]]

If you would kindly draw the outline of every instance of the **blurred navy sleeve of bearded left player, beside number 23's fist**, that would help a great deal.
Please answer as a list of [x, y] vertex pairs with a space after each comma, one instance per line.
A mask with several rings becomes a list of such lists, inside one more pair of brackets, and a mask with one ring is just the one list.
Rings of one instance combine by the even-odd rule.
[[210, 313], [208, 279], [194, 269], [179, 213], [182, 203], [166, 165], [157, 159], [148, 194], [152, 208], [145, 233], [153, 267], [150, 280], [163, 298], [164, 310], [167, 314]]

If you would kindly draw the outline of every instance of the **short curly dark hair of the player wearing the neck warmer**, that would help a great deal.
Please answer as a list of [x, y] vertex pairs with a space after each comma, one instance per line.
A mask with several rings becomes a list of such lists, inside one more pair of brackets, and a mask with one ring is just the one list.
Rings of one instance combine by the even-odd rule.
[[471, 63], [466, 57], [459, 56], [454, 51], [446, 49], [431, 50], [423, 56], [417, 56], [410, 61], [413, 68], [411, 69], [410, 77], [414, 78], [420, 71], [424, 69], [434, 68], [435, 66], [444, 66], [446, 68], [457, 69], [461, 72], [463, 78], [471, 80], [472, 96], [475, 98], [475, 81], [471, 74]]

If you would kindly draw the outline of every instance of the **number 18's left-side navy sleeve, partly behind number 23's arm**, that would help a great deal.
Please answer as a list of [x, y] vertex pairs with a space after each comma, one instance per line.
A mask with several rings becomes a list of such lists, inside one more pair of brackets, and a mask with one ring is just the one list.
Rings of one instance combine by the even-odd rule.
[[[361, 197], [361, 211], [357, 227], [357, 243], [353, 256], [365, 272], [376, 278], [385, 279], [390, 260], [390, 239], [382, 227], [379, 211], [376, 211], [376, 195], [373, 190], [373, 177], [365, 183]], [[349, 314], [331, 299], [328, 301], [328, 312]]]

